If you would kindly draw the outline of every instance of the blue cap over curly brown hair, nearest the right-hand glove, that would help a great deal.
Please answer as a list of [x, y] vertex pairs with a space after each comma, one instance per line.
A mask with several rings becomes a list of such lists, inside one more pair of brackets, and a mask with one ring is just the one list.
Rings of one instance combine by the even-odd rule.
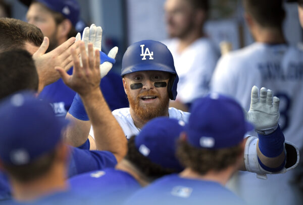
[[236, 146], [254, 128], [234, 99], [218, 93], [195, 100], [190, 112], [187, 142], [196, 148], [215, 150]]

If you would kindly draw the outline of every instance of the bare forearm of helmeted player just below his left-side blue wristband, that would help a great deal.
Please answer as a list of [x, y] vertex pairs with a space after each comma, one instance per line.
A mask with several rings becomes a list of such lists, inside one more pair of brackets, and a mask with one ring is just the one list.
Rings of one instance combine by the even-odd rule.
[[64, 133], [65, 142], [73, 147], [83, 145], [90, 130], [90, 121], [77, 119], [70, 113], [67, 113], [66, 119], [71, 121], [71, 126], [68, 126]]

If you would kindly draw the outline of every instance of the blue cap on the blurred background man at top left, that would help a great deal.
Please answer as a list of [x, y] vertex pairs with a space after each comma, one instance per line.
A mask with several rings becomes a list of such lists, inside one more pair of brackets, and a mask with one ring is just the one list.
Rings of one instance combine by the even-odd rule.
[[52, 11], [61, 13], [76, 27], [80, 16], [80, 6], [76, 0], [36, 0], [36, 2]]

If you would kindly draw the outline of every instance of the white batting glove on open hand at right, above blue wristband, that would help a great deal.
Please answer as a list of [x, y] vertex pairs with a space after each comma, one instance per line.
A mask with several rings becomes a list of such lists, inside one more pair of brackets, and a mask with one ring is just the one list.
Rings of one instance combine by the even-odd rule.
[[246, 114], [248, 121], [255, 125], [255, 130], [261, 134], [270, 134], [278, 127], [280, 99], [273, 97], [271, 90], [261, 88], [259, 101], [259, 88], [251, 89], [250, 108]]

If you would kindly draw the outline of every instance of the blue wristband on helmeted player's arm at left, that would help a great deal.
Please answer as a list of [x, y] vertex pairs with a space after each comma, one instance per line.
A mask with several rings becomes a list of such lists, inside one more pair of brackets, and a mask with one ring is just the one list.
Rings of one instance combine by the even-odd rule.
[[68, 110], [68, 112], [77, 119], [80, 119], [83, 121], [89, 120], [88, 115], [85, 111], [84, 105], [82, 103], [82, 100], [78, 93], [75, 95], [73, 103], [72, 103], [70, 109]]

